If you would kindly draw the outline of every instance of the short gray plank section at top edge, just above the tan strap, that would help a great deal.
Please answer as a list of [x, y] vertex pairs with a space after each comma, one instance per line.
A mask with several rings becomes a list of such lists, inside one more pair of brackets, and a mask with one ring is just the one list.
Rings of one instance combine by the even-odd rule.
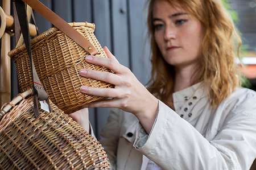
[[70, 0], [54, 0], [53, 10], [57, 15], [64, 19], [65, 22], [73, 22], [72, 6]]

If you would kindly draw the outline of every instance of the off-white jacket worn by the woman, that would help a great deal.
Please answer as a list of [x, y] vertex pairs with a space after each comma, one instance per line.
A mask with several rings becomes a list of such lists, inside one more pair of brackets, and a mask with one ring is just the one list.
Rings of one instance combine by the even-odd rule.
[[142, 154], [163, 169], [249, 169], [256, 157], [256, 93], [237, 88], [213, 110], [198, 86], [173, 94], [176, 112], [159, 101], [149, 135], [133, 114], [113, 110], [100, 140], [113, 169], [145, 169]]

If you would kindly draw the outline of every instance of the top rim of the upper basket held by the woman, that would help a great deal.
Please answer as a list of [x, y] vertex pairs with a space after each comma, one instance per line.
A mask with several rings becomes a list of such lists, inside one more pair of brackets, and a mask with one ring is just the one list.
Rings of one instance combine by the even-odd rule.
[[[94, 23], [89, 23], [89, 22], [72, 22], [72, 23], [68, 23], [70, 26], [72, 27], [89, 27], [89, 28], [93, 28], [93, 30], [95, 29], [95, 24]], [[52, 27], [49, 28], [49, 30], [43, 32], [42, 34], [36, 36], [35, 38], [33, 38], [31, 40], [31, 45], [35, 44], [37, 42], [39, 42], [40, 40], [46, 38], [47, 36], [50, 36], [52, 34], [54, 34], [56, 31], [59, 31], [59, 29], [57, 27]], [[13, 57], [15, 56], [17, 53], [24, 51], [26, 49], [26, 45], [22, 44], [19, 47], [16, 47], [14, 49], [12, 49], [9, 53], [8, 56], [9, 57]]]

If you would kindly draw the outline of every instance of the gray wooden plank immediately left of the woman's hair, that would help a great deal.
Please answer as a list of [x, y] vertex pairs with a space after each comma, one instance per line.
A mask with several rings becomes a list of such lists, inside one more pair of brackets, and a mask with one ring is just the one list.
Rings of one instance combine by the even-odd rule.
[[129, 0], [130, 45], [132, 71], [142, 84], [150, 78], [149, 43], [147, 39], [146, 15], [144, 3], [146, 1]]

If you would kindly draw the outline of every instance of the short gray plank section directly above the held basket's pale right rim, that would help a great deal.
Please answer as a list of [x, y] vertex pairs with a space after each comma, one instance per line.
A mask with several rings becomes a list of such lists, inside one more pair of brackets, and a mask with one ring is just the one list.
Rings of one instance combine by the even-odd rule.
[[73, 3], [73, 20], [75, 22], [92, 22], [92, 9], [90, 0], [75, 0]]

